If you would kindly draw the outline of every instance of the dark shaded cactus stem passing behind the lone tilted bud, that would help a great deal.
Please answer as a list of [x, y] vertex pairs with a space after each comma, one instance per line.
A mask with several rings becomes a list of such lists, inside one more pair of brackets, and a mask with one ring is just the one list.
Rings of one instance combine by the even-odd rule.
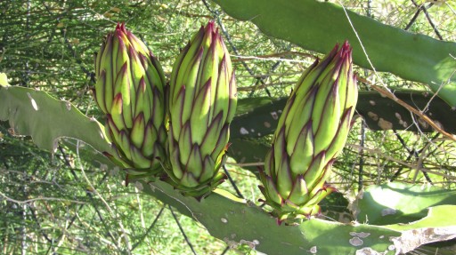
[[[395, 96], [405, 103], [425, 112], [444, 131], [456, 133], [456, 110], [449, 107], [444, 100], [435, 97], [430, 100], [428, 92], [396, 91]], [[272, 134], [275, 130], [281, 109], [287, 99], [270, 100], [243, 115], [236, 116], [231, 125], [232, 138], [258, 138]], [[430, 102], [429, 102], [430, 101]], [[244, 100], [240, 100], [242, 106]], [[407, 130], [430, 132], [434, 129], [418, 116], [397, 104], [394, 100], [382, 97], [378, 92], [359, 92], [356, 112], [364, 117], [369, 128], [381, 130]]]

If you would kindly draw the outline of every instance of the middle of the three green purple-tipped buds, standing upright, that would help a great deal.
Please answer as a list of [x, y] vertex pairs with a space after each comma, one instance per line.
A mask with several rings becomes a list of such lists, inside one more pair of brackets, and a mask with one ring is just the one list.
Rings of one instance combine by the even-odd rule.
[[167, 152], [170, 183], [204, 196], [223, 178], [236, 86], [229, 53], [212, 21], [191, 38], [171, 75]]

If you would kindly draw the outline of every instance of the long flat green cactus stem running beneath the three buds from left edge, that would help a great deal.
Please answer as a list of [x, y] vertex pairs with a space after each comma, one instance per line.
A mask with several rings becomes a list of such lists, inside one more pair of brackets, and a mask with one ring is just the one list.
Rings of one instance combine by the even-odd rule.
[[[9, 120], [18, 135], [31, 135], [39, 147], [53, 150], [56, 140], [70, 137], [92, 142], [98, 151], [110, 149], [108, 141], [100, 136], [101, 125], [67, 102], [55, 100], [45, 92], [20, 87], [0, 88], [0, 98], [0, 120]], [[431, 208], [429, 219], [432, 220], [415, 226], [419, 228], [399, 224], [384, 227], [343, 224], [322, 219], [305, 220], [299, 226], [279, 226], [276, 219], [254, 203], [221, 189], [198, 201], [159, 180], [133, 184], [198, 220], [211, 235], [230, 246], [248, 244], [267, 254], [394, 254], [411, 251], [423, 243], [452, 238], [456, 228], [456, 218], [447, 217], [449, 211], [455, 210], [453, 207]], [[438, 225], [436, 219], [444, 217], [447, 219]], [[432, 238], [428, 232], [421, 231], [423, 227], [434, 231]]]

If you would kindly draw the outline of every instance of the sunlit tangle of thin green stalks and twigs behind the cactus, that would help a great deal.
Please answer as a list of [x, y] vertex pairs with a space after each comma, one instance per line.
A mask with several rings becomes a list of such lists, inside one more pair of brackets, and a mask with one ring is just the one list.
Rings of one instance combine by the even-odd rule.
[[[337, 3], [397, 28], [455, 41], [451, 2]], [[428, 8], [422, 11], [421, 6]], [[204, 1], [2, 1], [0, 12], [0, 72], [8, 75], [9, 83], [49, 92], [97, 118], [100, 111], [90, 92], [93, 54], [118, 21], [125, 21], [151, 47], [168, 76], [191, 34], [209, 19], [217, 20], [233, 55], [240, 99], [287, 96], [302, 71], [321, 56], [265, 36], [253, 24], [233, 20], [216, 4]], [[423, 84], [391, 74], [376, 77], [369, 70], [358, 72], [372, 83], [381, 78], [395, 90], [428, 91]], [[362, 83], [360, 89], [371, 91]], [[28, 137], [13, 138], [11, 131], [6, 123], [0, 125], [0, 248], [4, 254], [255, 253], [248, 243], [228, 250], [197, 222], [135, 187], [122, 185], [121, 172], [94, 168], [69, 153], [65, 144], [49, 154]], [[360, 118], [331, 181], [349, 198], [365, 185], [392, 179], [454, 188], [455, 154], [454, 143], [439, 133], [370, 131]], [[227, 164], [237, 186], [228, 181], [223, 188], [256, 203], [255, 167], [250, 168], [253, 173], [247, 168]], [[352, 219], [348, 213], [337, 216]]]

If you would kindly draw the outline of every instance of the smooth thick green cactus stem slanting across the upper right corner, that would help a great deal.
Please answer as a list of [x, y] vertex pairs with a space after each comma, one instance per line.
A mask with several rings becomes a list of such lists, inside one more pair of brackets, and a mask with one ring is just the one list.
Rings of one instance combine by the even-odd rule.
[[336, 42], [348, 40], [353, 46], [355, 64], [371, 68], [371, 60], [377, 71], [428, 84], [433, 92], [439, 91], [440, 97], [456, 107], [456, 76], [452, 75], [456, 68], [452, 58], [456, 43], [413, 34], [344, 10], [336, 4], [314, 0], [214, 2], [233, 18], [253, 22], [265, 35], [287, 40], [307, 50], [330, 52]]

